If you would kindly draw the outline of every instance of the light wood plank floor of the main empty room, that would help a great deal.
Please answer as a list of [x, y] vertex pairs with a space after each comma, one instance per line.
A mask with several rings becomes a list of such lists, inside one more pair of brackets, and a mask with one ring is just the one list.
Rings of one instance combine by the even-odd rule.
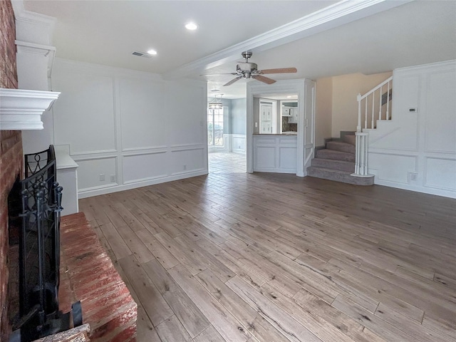
[[456, 341], [456, 201], [213, 173], [81, 199], [138, 341]]

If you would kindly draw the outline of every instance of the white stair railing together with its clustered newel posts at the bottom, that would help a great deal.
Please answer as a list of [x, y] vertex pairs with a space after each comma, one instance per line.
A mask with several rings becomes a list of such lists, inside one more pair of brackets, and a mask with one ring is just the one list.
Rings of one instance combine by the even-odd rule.
[[[366, 94], [358, 94], [358, 125], [356, 125], [356, 177], [371, 177], [368, 174], [368, 141], [367, 130], [376, 128], [375, 114], [377, 120], [391, 120], [391, 93], [393, 76], [380, 83]], [[383, 93], [386, 90], [385, 93]], [[364, 127], [362, 127], [364, 119]]]

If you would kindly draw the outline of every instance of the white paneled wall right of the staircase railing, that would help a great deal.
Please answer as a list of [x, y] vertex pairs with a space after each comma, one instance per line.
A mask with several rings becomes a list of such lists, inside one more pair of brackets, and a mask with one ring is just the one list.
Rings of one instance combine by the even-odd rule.
[[393, 72], [392, 120], [369, 133], [375, 184], [456, 198], [455, 94], [456, 61]]

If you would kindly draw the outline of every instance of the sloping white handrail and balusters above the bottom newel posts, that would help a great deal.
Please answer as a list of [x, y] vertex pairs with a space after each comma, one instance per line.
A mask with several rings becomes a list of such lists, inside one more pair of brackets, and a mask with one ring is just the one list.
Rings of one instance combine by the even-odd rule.
[[376, 127], [375, 119], [391, 120], [390, 99], [392, 86], [393, 76], [369, 90], [366, 94], [358, 94], [358, 125], [356, 125], [356, 132], [374, 129]]

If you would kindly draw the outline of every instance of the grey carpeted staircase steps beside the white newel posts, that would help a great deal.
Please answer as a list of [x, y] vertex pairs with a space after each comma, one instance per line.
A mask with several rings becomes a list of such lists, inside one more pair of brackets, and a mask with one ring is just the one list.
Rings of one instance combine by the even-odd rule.
[[316, 151], [307, 175], [354, 185], [373, 185], [373, 177], [354, 177], [355, 135], [341, 135], [340, 140], [327, 140], [322, 150]]

